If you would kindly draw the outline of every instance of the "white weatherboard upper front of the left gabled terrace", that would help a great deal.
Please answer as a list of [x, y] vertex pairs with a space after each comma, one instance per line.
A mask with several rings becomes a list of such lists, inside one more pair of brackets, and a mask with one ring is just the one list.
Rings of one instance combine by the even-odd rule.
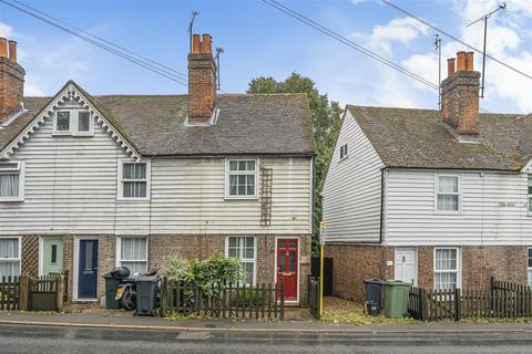
[[224, 199], [224, 158], [153, 159], [151, 201], [117, 201], [119, 160], [131, 158], [100, 124], [59, 137], [47, 119], [11, 159], [25, 164], [24, 201], [0, 202], [0, 236], [311, 232], [310, 158], [259, 159], [274, 169], [270, 227], [257, 199]]

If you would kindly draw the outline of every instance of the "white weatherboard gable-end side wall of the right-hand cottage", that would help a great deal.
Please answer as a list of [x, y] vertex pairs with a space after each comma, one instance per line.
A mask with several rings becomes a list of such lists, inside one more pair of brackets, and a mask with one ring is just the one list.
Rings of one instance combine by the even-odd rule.
[[[339, 152], [347, 144], [348, 157]], [[379, 241], [383, 164], [346, 112], [323, 190], [326, 241]]]

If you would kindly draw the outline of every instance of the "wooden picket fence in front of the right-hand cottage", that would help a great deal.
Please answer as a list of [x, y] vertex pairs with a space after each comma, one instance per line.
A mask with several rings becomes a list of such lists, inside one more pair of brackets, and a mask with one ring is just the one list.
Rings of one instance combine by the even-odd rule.
[[494, 278], [487, 290], [411, 288], [408, 312], [422, 321], [532, 317], [532, 289]]

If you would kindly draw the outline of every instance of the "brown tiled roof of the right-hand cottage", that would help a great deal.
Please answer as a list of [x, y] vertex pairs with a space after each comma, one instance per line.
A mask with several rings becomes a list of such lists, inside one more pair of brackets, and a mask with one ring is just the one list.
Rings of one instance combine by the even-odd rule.
[[438, 111], [348, 105], [386, 166], [520, 170], [532, 158], [532, 115], [481, 114], [478, 144], [461, 143]]

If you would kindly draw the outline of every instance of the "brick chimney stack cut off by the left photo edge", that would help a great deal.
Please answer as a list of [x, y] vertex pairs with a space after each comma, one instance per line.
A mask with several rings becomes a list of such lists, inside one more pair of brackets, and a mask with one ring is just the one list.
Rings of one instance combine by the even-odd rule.
[[24, 69], [17, 63], [17, 42], [0, 38], [0, 123], [21, 107], [24, 75]]

